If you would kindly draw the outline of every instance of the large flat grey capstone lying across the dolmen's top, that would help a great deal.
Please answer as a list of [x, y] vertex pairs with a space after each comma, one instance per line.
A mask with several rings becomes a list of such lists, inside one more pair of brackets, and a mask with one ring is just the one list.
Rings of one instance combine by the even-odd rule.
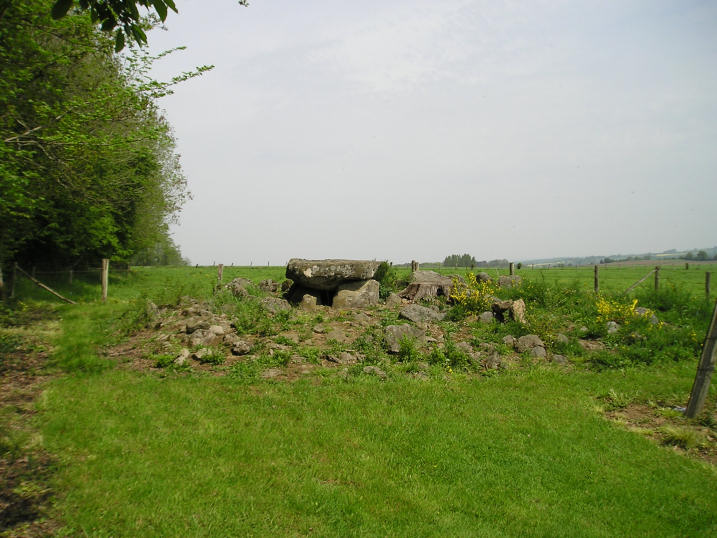
[[369, 260], [302, 260], [292, 258], [286, 278], [315, 290], [334, 290], [352, 280], [370, 280], [380, 262]]

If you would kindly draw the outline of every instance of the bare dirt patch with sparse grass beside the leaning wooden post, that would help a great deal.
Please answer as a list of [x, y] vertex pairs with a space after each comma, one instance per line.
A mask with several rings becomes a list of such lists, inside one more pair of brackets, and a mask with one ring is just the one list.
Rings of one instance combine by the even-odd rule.
[[631, 403], [606, 416], [675, 452], [717, 465], [717, 403], [710, 402], [696, 419], [677, 406]]

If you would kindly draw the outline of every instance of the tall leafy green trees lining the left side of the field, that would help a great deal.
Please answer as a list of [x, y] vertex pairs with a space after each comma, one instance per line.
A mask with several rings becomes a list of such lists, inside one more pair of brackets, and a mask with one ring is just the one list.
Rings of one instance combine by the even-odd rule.
[[154, 81], [157, 57], [53, 5], [0, 0], [0, 268], [180, 262], [189, 194], [155, 99], [210, 67]]

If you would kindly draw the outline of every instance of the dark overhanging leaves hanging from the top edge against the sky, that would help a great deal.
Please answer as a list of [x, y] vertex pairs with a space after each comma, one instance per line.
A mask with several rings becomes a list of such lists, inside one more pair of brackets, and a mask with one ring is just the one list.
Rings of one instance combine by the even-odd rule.
[[[249, 5], [248, 0], [238, 0], [238, 3]], [[126, 41], [139, 45], [147, 43], [146, 17], [140, 14], [139, 7], [156, 15], [162, 22], [170, 9], [179, 13], [174, 0], [56, 0], [51, 8], [52, 17], [65, 17], [75, 5], [77, 11], [88, 12], [92, 22], [99, 23], [103, 31], [114, 32], [117, 52], [124, 48]]]

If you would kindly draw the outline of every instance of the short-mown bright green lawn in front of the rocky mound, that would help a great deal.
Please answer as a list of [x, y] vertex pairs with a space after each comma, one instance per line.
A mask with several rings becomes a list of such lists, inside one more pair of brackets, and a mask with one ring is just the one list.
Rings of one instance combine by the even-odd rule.
[[692, 365], [491, 378], [110, 370], [41, 398], [70, 534], [710, 536], [714, 467], [605, 420], [612, 388], [686, 395]]

